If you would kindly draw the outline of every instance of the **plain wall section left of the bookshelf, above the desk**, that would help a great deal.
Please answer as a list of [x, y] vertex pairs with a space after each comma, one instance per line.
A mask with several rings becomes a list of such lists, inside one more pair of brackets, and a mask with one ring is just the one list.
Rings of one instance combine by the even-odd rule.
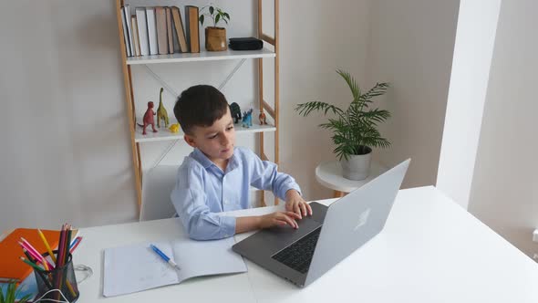
[[133, 220], [129, 131], [111, 1], [0, 11], [0, 231]]

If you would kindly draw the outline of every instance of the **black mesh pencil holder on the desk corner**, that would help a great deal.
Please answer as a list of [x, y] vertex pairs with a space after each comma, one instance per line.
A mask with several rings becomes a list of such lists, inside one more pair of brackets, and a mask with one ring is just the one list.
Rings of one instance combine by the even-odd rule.
[[[57, 255], [57, 250], [53, 252]], [[48, 253], [43, 254], [42, 256], [48, 256]], [[73, 256], [71, 254], [67, 255], [67, 262], [64, 266], [59, 266], [52, 270], [36, 270], [34, 269], [34, 274], [36, 275], [37, 281], [37, 290], [38, 295], [36, 298], [41, 298], [49, 290], [59, 289], [62, 294], [65, 296], [62, 297], [58, 291], [51, 291], [41, 299], [53, 299], [58, 301], [76, 302], [79, 296], [77, 277], [75, 277], [75, 269], [73, 267]]]

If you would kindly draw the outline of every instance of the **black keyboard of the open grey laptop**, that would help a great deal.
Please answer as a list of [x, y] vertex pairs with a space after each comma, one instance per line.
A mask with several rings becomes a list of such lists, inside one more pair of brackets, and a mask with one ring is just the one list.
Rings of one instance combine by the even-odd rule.
[[291, 246], [285, 247], [272, 257], [283, 263], [285, 266], [294, 268], [301, 274], [305, 274], [312, 262], [314, 248], [316, 248], [317, 238], [321, 232], [321, 226], [317, 227], [312, 233], [305, 235]]

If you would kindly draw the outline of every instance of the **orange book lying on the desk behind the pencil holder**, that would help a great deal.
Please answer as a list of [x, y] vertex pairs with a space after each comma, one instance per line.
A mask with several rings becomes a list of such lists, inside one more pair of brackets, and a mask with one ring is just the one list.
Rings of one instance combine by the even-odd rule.
[[[47, 238], [48, 245], [52, 250], [57, 249], [60, 232], [54, 230], [41, 230]], [[71, 239], [74, 240], [78, 230], [74, 229]], [[27, 266], [20, 260], [21, 256], [25, 256], [23, 248], [19, 246], [21, 237], [25, 238], [36, 250], [43, 254], [47, 252], [47, 247], [37, 234], [37, 229], [17, 228], [11, 234], [7, 235], [0, 242], [0, 279], [17, 279], [24, 280], [33, 271], [32, 267]]]

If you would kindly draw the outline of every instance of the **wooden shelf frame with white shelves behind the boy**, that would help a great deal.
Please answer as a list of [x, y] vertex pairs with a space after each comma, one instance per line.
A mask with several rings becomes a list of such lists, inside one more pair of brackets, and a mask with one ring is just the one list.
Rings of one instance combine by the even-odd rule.
[[[267, 1], [267, 0], [266, 0]], [[118, 18], [118, 33], [119, 33], [119, 51], [121, 55], [121, 68], [123, 72], [123, 84], [125, 88], [125, 102], [127, 112], [129, 116], [129, 132], [130, 143], [132, 150], [132, 162], [133, 171], [135, 176], [135, 189], [137, 192], [137, 202], [140, 207], [142, 203], [142, 166], [140, 160], [140, 143], [145, 141], [162, 141], [162, 140], [177, 140], [177, 136], [180, 134], [174, 134], [176, 136], [161, 136], [162, 138], [140, 138], [136, 131], [136, 113], [135, 113], [135, 101], [132, 88], [132, 74], [131, 66], [140, 64], [160, 64], [160, 63], [180, 63], [188, 61], [212, 61], [212, 60], [225, 60], [225, 59], [245, 59], [254, 58], [258, 60], [258, 99], [259, 109], [262, 112], [267, 112], [273, 119], [274, 125], [261, 126], [253, 128], [253, 130], [243, 130], [244, 132], [256, 132], [259, 134], [260, 142], [260, 155], [262, 159], [268, 160], [264, 149], [264, 132], [274, 131], [274, 159], [278, 165], [279, 162], [279, 0], [274, 1], [274, 37], [269, 37], [263, 33], [262, 23], [262, 5], [263, 0], [258, 0], [258, 38], [264, 40], [266, 43], [274, 47], [274, 51], [266, 48], [258, 51], [242, 51], [236, 52], [228, 50], [224, 52], [206, 52], [202, 51], [199, 54], [171, 54], [171, 55], [155, 55], [144, 57], [127, 57], [125, 40], [123, 38], [123, 23], [121, 20], [121, 6], [124, 5], [124, 0], [116, 0], [116, 15]], [[152, 3], [151, 5], [154, 5]], [[274, 58], [274, 108], [272, 108], [267, 102], [264, 101], [264, 58]], [[242, 130], [239, 130], [240, 132]], [[265, 205], [264, 192], [262, 191], [262, 205]], [[274, 204], [278, 204], [278, 198], [274, 198]]]

